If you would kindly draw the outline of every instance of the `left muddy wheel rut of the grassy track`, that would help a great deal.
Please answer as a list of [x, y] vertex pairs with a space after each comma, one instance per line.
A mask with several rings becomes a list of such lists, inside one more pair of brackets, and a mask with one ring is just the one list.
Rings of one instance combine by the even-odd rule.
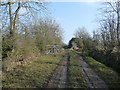
[[67, 64], [68, 56], [65, 55], [48, 82], [47, 88], [67, 88]]

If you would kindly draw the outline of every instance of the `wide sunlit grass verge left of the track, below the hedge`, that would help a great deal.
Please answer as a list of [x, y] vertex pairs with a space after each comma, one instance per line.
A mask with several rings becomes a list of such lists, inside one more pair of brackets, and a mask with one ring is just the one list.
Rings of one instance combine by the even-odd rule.
[[60, 56], [42, 56], [25, 66], [3, 72], [3, 88], [41, 88], [60, 61]]

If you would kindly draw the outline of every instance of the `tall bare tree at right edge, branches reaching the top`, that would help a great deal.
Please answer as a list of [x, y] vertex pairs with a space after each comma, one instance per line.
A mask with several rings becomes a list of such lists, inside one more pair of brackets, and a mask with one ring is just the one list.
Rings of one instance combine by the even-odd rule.
[[[106, 17], [110, 17], [108, 20], [109, 22], [109, 27], [111, 28], [110, 30], [116, 31], [116, 37], [117, 37], [117, 45], [120, 48], [120, 0], [115, 0], [113, 2], [106, 2], [106, 5], [108, 6], [105, 10], [104, 13]], [[110, 16], [112, 15], [112, 16]], [[110, 32], [111, 32], [110, 31]], [[111, 32], [111, 39], [114, 41], [115, 36], [113, 34], [114, 32]], [[114, 43], [114, 42], [113, 42]]]

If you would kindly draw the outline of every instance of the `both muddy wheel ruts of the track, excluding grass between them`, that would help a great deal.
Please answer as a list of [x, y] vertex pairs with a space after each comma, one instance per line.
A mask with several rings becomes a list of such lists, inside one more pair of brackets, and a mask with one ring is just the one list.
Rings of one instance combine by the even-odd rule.
[[[103, 88], [108, 87], [105, 82], [90, 68], [90, 66], [83, 60], [82, 56], [78, 58], [80, 69], [82, 71], [83, 77], [86, 80], [87, 86], [91, 88]], [[55, 69], [50, 81], [46, 88], [67, 88], [68, 80], [68, 56], [65, 55], [60, 61], [59, 65]]]

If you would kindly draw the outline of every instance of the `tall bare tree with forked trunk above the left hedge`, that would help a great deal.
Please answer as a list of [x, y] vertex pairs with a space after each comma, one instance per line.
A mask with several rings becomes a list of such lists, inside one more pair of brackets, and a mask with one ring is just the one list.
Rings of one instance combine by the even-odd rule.
[[[13, 2], [8, 0], [6, 2], [0, 2], [1, 16], [4, 25], [8, 24], [10, 34], [13, 34], [16, 30], [17, 19], [20, 16], [20, 10], [24, 10], [25, 15], [33, 15], [34, 12], [41, 12], [46, 9], [45, 2], [43, 0], [24, 2], [18, 0]], [[5, 18], [4, 18], [5, 15]], [[4, 21], [5, 20], [5, 21]], [[5, 23], [6, 22], [6, 23]]]

